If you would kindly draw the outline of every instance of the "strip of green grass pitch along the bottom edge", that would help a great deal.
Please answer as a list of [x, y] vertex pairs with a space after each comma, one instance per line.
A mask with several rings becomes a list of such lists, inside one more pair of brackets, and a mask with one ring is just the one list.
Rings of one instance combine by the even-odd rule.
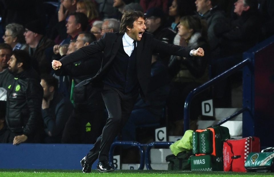
[[241, 173], [241, 172], [191, 172], [182, 170], [115, 170], [114, 172], [98, 172], [92, 170], [89, 174], [81, 173], [81, 170], [22, 170], [22, 169], [0, 169], [0, 176], [2, 177], [32, 177], [32, 176], [47, 176], [47, 177], [270, 177], [274, 173]]

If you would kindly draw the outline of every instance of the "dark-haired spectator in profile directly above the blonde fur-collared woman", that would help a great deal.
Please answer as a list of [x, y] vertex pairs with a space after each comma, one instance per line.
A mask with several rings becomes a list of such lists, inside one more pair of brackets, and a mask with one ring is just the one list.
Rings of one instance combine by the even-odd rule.
[[171, 28], [178, 32], [177, 26], [181, 17], [185, 15], [194, 15], [195, 4], [192, 0], [173, 0], [169, 7], [168, 15], [172, 19]]

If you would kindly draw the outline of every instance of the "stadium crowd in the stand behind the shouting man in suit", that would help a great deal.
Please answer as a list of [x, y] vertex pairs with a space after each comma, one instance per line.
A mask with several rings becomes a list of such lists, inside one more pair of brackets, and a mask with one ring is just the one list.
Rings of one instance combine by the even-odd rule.
[[[153, 53], [148, 96], [137, 98], [122, 140], [136, 141], [138, 125], [166, 124], [166, 116], [170, 135], [183, 135], [189, 92], [274, 34], [272, 0], [0, 0], [0, 143], [96, 142], [108, 118], [101, 90], [74, 85], [96, 75], [103, 53], [56, 71], [51, 62], [118, 32], [128, 10], [145, 13], [146, 32], [155, 39], [202, 47], [205, 56]], [[192, 130], [201, 100], [211, 96], [218, 106], [231, 106], [233, 82], [192, 101]]]

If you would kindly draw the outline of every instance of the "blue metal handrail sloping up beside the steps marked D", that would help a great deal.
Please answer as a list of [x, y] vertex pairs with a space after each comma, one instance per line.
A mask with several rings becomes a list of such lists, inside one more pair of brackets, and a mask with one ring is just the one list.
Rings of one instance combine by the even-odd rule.
[[[238, 71], [242, 67], [248, 65], [249, 63], [251, 63], [251, 59], [245, 59], [245, 60], [241, 61], [240, 63], [238, 63], [237, 65], [235, 65], [235, 66], [231, 67], [230, 69], [224, 71], [220, 75], [217, 75], [213, 79], [210, 79], [206, 83], [200, 85], [199, 87], [197, 87], [196, 89], [192, 90], [188, 94], [188, 96], [186, 97], [185, 106], [184, 106], [184, 132], [186, 132], [186, 130], [189, 129], [190, 102], [192, 101], [192, 99], [194, 98], [194, 96], [196, 96], [197, 94], [199, 94], [202, 91], [206, 90], [208, 87], [212, 86], [213, 84], [217, 83], [218, 81], [220, 81], [220, 80], [228, 77], [232, 73], [235, 73], [236, 71]], [[246, 110], [248, 110], [248, 108], [244, 108], [244, 111], [246, 111]], [[231, 119], [233, 117], [230, 116], [229, 118]], [[225, 120], [227, 121], [227, 119], [225, 119]]]

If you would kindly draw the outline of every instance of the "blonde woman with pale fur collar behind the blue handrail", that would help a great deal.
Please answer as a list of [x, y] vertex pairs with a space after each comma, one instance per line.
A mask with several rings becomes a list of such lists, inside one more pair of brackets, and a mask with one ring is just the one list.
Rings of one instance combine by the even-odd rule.
[[[174, 38], [174, 44], [195, 49], [201, 46], [205, 53], [209, 53], [206, 40], [206, 27], [200, 19], [194, 16], [184, 16], [178, 25], [178, 34]], [[208, 55], [205, 57], [183, 58], [172, 56], [170, 58], [169, 73], [172, 77], [170, 94], [167, 101], [168, 120], [176, 127], [171, 128], [174, 136], [183, 135], [184, 103], [188, 94], [196, 87], [206, 82], [208, 78]], [[197, 119], [201, 115], [200, 97], [191, 102], [190, 129], [197, 129]]]

